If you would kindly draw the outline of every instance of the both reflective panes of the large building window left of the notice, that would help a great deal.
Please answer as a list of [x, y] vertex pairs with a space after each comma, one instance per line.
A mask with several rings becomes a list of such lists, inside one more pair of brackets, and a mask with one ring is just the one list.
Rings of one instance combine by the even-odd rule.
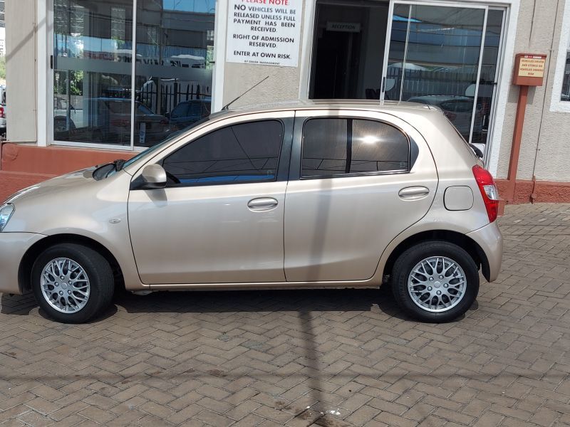
[[54, 0], [53, 139], [152, 146], [211, 110], [214, 0]]

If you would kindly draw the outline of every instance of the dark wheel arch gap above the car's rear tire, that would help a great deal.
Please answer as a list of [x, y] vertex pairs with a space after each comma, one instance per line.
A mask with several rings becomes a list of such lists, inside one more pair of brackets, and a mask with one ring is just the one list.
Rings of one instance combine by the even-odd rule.
[[479, 246], [479, 244], [469, 236], [458, 233], [457, 231], [450, 230], [422, 231], [420, 233], [414, 234], [413, 236], [405, 238], [403, 241], [398, 243], [398, 246], [396, 246], [392, 253], [390, 253], [390, 256], [388, 256], [388, 260], [386, 260], [383, 269], [383, 277], [392, 274], [395, 260], [397, 260], [402, 253], [408, 250], [408, 248], [411, 248], [412, 246], [425, 241], [446, 241], [449, 243], [455, 243], [457, 246], [465, 249], [473, 261], [475, 261], [477, 268], [480, 268], [482, 270], [484, 278], [489, 280], [489, 260], [487, 259], [487, 255], [485, 255], [481, 246]]

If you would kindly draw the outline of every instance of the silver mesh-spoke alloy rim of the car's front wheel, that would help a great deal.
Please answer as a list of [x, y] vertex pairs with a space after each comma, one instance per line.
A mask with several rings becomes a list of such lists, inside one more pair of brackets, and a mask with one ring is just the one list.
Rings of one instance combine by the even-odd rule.
[[71, 258], [53, 259], [41, 271], [41, 294], [58, 312], [69, 314], [83, 309], [90, 289], [85, 269]]

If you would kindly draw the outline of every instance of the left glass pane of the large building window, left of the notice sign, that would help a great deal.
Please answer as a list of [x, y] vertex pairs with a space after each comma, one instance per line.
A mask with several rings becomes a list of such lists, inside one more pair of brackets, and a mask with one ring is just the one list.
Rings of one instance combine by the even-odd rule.
[[133, 2], [53, 1], [53, 139], [130, 145]]

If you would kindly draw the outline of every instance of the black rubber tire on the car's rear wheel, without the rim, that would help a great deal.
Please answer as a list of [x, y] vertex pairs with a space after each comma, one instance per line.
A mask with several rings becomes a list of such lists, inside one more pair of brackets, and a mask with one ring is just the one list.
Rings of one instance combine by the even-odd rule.
[[[408, 292], [408, 279], [420, 261], [437, 256], [449, 258], [457, 263], [465, 273], [466, 283], [463, 297], [455, 303], [455, 306], [446, 311], [433, 312], [414, 302], [410, 292]], [[437, 278], [435, 279], [437, 280]], [[398, 257], [392, 270], [391, 282], [396, 302], [408, 315], [422, 322], [450, 322], [465, 314], [477, 298], [479, 270], [473, 258], [460, 246], [446, 241], [426, 241], [409, 248]], [[457, 282], [458, 280], [454, 280], [453, 283]], [[450, 301], [449, 298], [446, 302], [448, 301]]]

